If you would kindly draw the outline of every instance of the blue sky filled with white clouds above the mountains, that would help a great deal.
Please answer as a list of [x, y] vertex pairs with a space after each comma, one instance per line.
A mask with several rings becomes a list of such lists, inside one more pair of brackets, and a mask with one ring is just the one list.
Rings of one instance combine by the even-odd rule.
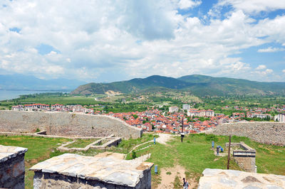
[[0, 75], [285, 82], [284, 0], [0, 0]]

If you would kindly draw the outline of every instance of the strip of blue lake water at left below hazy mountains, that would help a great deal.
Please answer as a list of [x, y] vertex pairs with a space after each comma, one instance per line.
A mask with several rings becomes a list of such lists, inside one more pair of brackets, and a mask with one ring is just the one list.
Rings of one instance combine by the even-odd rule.
[[[45, 93], [45, 92], [63, 92], [63, 91], [43, 91], [43, 90], [0, 90], [0, 100], [4, 99], [15, 99], [19, 95], [32, 95], [36, 93]], [[65, 91], [66, 92], [66, 91]], [[64, 92], [63, 92], [64, 93]]]

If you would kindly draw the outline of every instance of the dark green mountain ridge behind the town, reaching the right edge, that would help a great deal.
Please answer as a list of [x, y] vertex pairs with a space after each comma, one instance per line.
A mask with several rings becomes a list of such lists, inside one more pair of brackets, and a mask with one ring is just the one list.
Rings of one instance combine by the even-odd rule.
[[179, 78], [152, 75], [146, 78], [110, 82], [88, 83], [71, 92], [72, 95], [103, 94], [113, 92], [152, 91], [157, 87], [169, 90], [187, 90], [193, 95], [284, 95], [285, 82], [254, 82], [228, 77], [209, 77], [206, 75], [187, 75]]

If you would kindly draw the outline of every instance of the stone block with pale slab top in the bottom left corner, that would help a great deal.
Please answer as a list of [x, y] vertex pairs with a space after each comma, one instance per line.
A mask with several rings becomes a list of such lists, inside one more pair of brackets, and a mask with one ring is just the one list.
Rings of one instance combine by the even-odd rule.
[[26, 148], [0, 145], [0, 188], [25, 188]]

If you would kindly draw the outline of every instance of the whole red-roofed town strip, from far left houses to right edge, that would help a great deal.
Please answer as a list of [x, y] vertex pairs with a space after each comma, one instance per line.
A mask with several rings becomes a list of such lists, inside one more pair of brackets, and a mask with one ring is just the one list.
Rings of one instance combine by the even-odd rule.
[[[271, 108], [249, 108], [234, 106], [237, 112], [232, 115], [218, 114], [212, 109], [194, 109], [190, 104], [183, 104], [182, 107], [169, 107], [168, 112], [163, 112], [155, 107], [148, 108], [143, 112], [104, 112], [94, 110], [93, 107], [100, 107], [100, 104], [89, 106], [63, 105], [63, 104], [20, 104], [11, 107], [14, 111], [48, 111], [48, 112], [73, 112], [82, 114], [102, 114], [115, 117], [126, 123], [141, 128], [144, 131], [154, 131], [166, 134], [191, 134], [207, 131], [215, 128], [219, 124], [232, 122], [247, 122], [251, 119], [260, 121], [285, 122], [285, 105]], [[225, 106], [222, 109], [229, 109]], [[246, 112], [242, 113], [240, 111]], [[279, 112], [274, 117], [270, 112]]]

